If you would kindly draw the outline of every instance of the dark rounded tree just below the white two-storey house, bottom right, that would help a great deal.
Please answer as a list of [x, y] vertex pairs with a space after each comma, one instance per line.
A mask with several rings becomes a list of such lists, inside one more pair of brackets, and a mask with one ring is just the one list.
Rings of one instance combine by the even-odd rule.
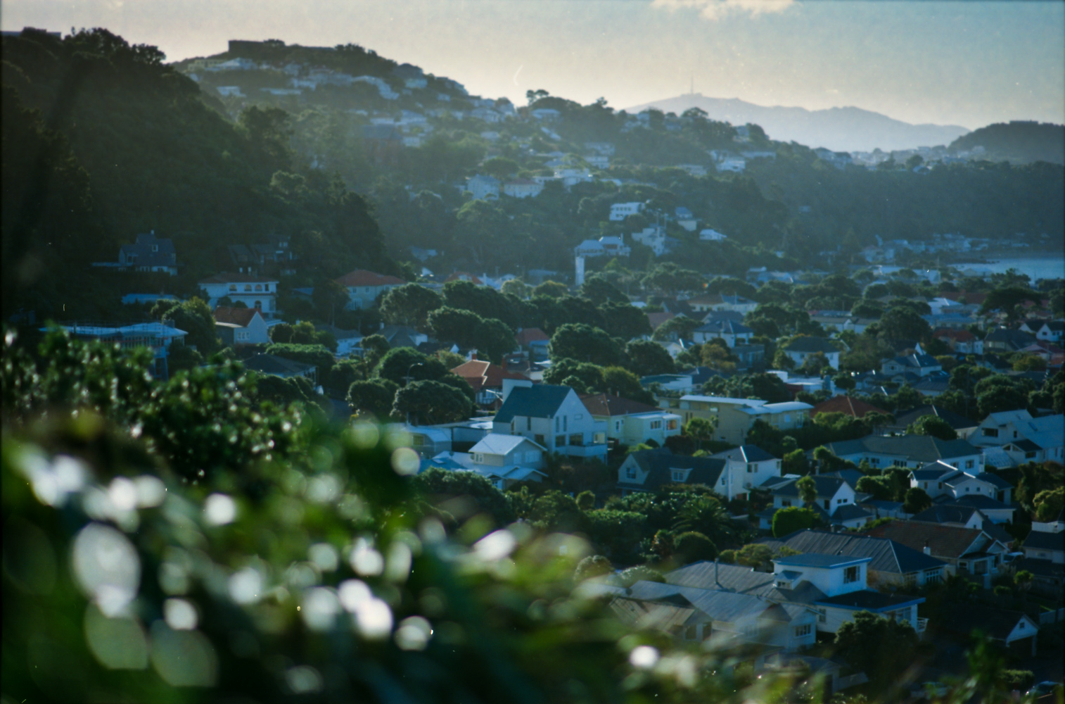
[[858, 611], [836, 631], [836, 652], [855, 670], [865, 672], [873, 687], [896, 686], [914, 661], [917, 632], [905, 621]]

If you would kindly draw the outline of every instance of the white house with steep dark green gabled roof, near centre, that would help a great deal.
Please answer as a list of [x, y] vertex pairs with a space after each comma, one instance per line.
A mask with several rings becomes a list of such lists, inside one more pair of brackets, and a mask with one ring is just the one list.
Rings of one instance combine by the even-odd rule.
[[492, 431], [523, 436], [552, 453], [606, 461], [606, 424], [592, 418], [570, 387], [504, 379]]

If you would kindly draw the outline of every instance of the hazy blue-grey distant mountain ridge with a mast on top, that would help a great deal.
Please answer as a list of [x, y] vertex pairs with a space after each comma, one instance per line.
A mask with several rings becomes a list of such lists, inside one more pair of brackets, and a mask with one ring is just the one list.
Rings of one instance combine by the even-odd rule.
[[689, 108], [705, 110], [707, 117], [733, 125], [753, 122], [771, 140], [798, 142], [808, 147], [825, 147], [834, 151], [884, 151], [948, 145], [968, 134], [957, 125], [911, 125], [861, 108], [767, 108], [738, 98], [711, 98], [689, 93], [675, 98], [655, 100], [628, 108], [640, 112], [656, 108], [679, 115]]

